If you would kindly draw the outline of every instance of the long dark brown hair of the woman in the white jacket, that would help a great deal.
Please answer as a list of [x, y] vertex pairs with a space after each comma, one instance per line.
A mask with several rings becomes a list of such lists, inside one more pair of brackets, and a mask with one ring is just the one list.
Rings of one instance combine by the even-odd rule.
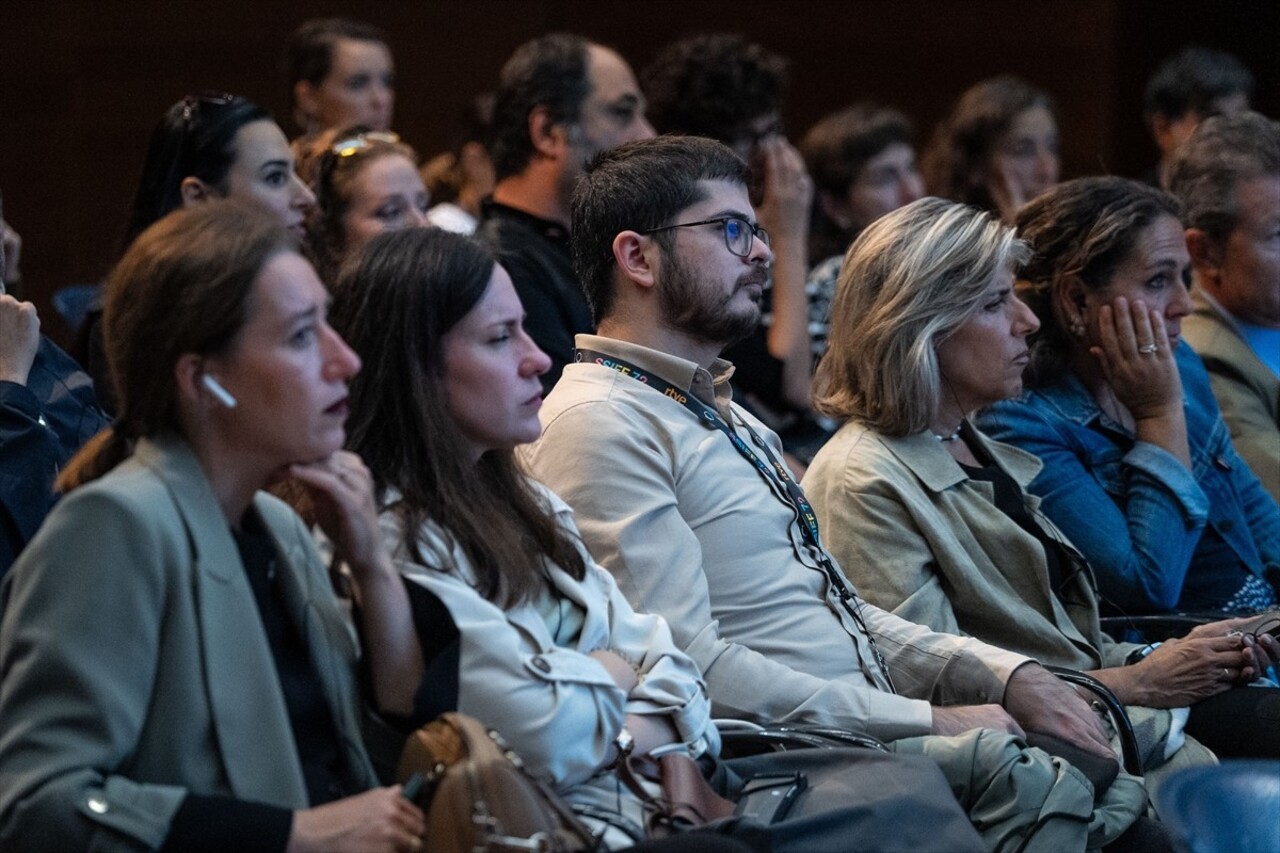
[[[347, 446], [365, 460], [380, 501], [403, 525], [415, 562], [434, 524], [467, 556], [480, 593], [509, 607], [544, 585], [543, 560], [581, 579], [586, 566], [511, 450], [471, 462], [448, 410], [444, 336], [483, 298], [495, 261], [468, 237], [436, 228], [379, 234], [343, 265], [330, 323], [360, 355]], [[477, 391], [476, 393], [483, 393]]]

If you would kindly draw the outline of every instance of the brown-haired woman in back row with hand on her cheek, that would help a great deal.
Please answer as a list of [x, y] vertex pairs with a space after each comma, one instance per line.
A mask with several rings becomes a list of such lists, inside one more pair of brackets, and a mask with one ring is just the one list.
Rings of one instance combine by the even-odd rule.
[[1020, 77], [969, 87], [924, 151], [931, 195], [977, 205], [1011, 223], [1057, 183], [1057, 119], [1048, 93]]

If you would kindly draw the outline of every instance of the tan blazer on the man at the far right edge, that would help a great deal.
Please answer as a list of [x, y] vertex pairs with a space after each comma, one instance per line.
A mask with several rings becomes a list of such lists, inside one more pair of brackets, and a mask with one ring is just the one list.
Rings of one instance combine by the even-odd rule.
[[1192, 302], [1196, 311], [1183, 320], [1183, 334], [1204, 361], [1235, 452], [1280, 502], [1280, 377], [1199, 288], [1192, 291]]

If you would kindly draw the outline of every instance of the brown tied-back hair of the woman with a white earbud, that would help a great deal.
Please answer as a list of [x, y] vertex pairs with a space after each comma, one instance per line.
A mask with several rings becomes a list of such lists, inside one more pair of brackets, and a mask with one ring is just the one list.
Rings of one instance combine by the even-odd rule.
[[298, 251], [297, 240], [274, 218], [228, 200], [180, 207], [138, 234], [106, 282], [116, 418], [68, 462], [59, 491], [106, 474], [134, 439], [182, 429], [174, 365], [234, 342], [259, 274], [287, 251]]

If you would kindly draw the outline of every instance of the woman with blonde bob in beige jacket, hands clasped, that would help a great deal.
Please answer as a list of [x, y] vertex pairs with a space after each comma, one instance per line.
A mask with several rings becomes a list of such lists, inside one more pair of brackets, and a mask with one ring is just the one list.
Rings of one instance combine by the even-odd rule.
[[[1280, 716], [1242, 733], [1258, 720], [1238, 713], [1234, 697], [1226, 715], [1201, 699], [1258, 678], [1280, 660], [1280, 642], [1243, 637], [1242, 620], [1199, 626], [1146, 657], [1112, 642], [1092, 571], [1024, 491], [1039, 460], [969, 424], [1021, 391], [1027, 336], [1039, 327], [1014, 296], [1029, 254], [1010, 225], [941, 199], [886, 216], [854, 243], [818, 369], [818, 405], [845, 425], [804, 480], [828, 547], [868, 601], [902, 619], [1089, 671], [1130, 706], [1148, 781], [1156, 767], [1164, 776], [1213, 761], [1193, 742], [1179, 747], [1188, 704], [1192, 729], [1266, 754], [1280, 744]], [[1276, 690], [1233, 693], [1280, 707]]]

